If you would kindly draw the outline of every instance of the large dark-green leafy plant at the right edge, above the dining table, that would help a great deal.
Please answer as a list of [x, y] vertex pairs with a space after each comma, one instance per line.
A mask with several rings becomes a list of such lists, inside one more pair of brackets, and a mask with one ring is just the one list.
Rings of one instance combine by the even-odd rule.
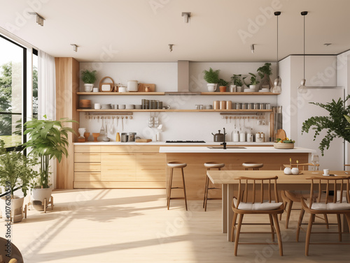
[[[348, 128], [349, 122], [347, 117], [350, 114], [350, 105], [346, 106], [346, 100], [349, 100], [348, 95], [343, 101], [342, 98], [331, 103], [311, 103], [322, 107], [329, 112], [329, 116], [311, 117], [302, 123], [302, 133], [309, 133], [309, 130], [314, 130], [314, 140], [320, 135], [322, 130], [326, 131], [325, 137], [321, 140], [318, 149], [321, 150], [322, 156], [325, 149], [329, 149], [330, 142], [336, 137], [343, 138], [350, 142], [350, 130]], [[346, 117], [344, 117], [346, 116]]]

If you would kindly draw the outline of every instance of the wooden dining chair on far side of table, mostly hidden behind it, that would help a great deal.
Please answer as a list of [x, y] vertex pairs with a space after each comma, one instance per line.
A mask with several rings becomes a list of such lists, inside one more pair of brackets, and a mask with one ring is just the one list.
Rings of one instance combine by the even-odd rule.
[[[309, 166], [313, 166], [316, 167], [317, 165], [314, 165], [313, 163], [299, 163], [299, 164], [292, 164], [292, 165], [283, 165], [283, 167], [281, 167], [281, 169], [283, 169], [284, 167], [289, 167], [289, 168], [293, 168], [293, 167], [298, 167], [300, 171], [304, 171], [306, 170]], [[299, 210], [299, 209], [293, 209], [293, 203], [294, 202], [300, 202], [300, 197], [307, 199], [309, 197], [310, 193], [309, 190], [306, 191], [302, 191], [302, 190], [282, 190], [281, 191], [281, 197], [282, 197], [282, 201], [283, 201], [283, 207], [284, 210], [286, 211], [286, 229], [288, 228], [289, 225], [289, 219], [290, 219], [290, 213], [292, 212], [292, 210]], [[279, 216], [279, 220], [282, 219], [282, 214]], [[326, 223], [326, 227], [328, 228], [328, 218], [325, 215], [324, 216], [324, 220]]]

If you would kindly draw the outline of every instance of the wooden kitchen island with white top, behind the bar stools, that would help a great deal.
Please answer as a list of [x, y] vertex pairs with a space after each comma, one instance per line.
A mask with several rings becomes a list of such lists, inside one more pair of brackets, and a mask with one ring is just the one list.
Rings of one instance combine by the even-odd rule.
[[[228, 145], [229, 147], [230, 145]], [[184, 168], [186, 191], [188, 200], [202, 200], [204, 196], [204, 183], [206, 179], [206, 168], [204, 163], [218, 162], [225, 163], [222, 170], [244, 170], [242, 163], [263, 163], [264, 167], [260, 170], [280, 170], [283, 164], [289, 163], [292, 158], [293, 163], [296, 160], [299, 163], [308, 163], [311, 153], [315, 150], [295, 147], [294, 149], [274, 149], [272, 146], [237, 146], [237, 148], [211, 149], [206, 146], [160, 146], [160, 153], [167, 155], [168, 162], [187, 163]], [[167, 169], [167, 179], [169, 168]], [[175, 185], [180, 184], [180, 177], [174, 176]], [[209, 191], [210, 197], [221, 197], [221, 189]], [[174, 197], [181, 197], [181, 191], [173, 193]]]

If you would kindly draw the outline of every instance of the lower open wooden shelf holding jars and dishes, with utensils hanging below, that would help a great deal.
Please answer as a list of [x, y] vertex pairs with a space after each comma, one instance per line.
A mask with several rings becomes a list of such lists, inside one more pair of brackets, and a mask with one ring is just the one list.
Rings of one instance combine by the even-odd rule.
[[77, 112], [272, 112], [272, 110], [94, 110], [77, 109]]

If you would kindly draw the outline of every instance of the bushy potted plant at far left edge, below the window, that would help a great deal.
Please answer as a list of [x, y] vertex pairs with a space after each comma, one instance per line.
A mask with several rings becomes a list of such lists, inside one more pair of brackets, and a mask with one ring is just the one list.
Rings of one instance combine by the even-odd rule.
[[[6, 193], [0, 198], [1, 216], [13, 222], [20, 222], [23, 218], [23, 202], [27, 190], [38, 176], [38, 172], [32, 168], [38, 161], [35, 157], [27, 158], [21, 151], [6, 151], [4, 145], [3, 140], [0, 140], [0, 184]], [[23, 197], [15, 195], [15, 190], [19, 189], [22, 189]], [[10, 211], [6, 206], [10, 207]]]

